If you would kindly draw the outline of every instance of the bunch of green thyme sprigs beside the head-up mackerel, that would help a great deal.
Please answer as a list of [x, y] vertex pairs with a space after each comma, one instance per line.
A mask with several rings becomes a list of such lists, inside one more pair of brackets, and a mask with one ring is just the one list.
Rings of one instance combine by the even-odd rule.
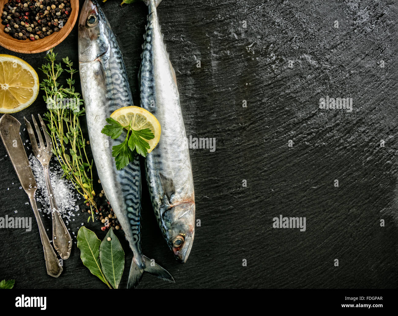
[[[48, 111], [44, 114], [49, 122], [47, 127], [53, 143], [53, 154], [57, 156], [60, 166], [64, 171], [63, 177], [70, 180], [77, 192], [85, 198], [85, 203], [90, 204], [91, 217], [94, 221], [93, 208], [97, 209], [93, 188], [92, 166], [86, 153], [86, 140], [80, 126], [80, 116], [85, 115], [80, 93], [75, 91], [73, 75], [78, 72], [73, 62], [68, 57], [62, 58], [66, 65], [56, 63], [57, 54], [53, 49], [45, 56], [49, 62], [43, 64], [41, 71], [47, 76], [40, 83], [40, 89], [45, 92], [43, 96]], [[58, 79], [62, 72], [66, 71], [70, 77], [66, 79], [66, 85], [60, 85]], [[90, 219], [90, 217], [89, 217]]]

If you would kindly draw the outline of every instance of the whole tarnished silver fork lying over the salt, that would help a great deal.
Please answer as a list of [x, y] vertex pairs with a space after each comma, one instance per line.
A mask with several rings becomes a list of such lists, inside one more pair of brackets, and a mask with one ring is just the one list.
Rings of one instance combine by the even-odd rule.
[[43, 137], [41, 136], [40, 128], [37, 125], [35, 117], [32, 114], [33, 124], [35, 125], [37, 137], [39, 138], [39, 143], [40, 143], [39, 147], [37, 145], [37, 141], [31, 124], [25, 117], [23, 117], [23, 119], [25, 120], [27, 132], [29, 134], [29, 138], [32, 144], [33, 153], [35, 154], [37, 160], [40, 161], [46, 179], [47, 192], [50, 197], [51, 214], [53, 215], [53, 246], [55, 250], [58, 251], [60, 257], [63, 260], [65, 260], [68, 259], [70, 256], [70, 249], [72, 248], [72, 238], [70, 238], [68, 229], [66, 229], [65, 223], [62, 220], [62, 217], [59, 213], [57, 203], [55, 202], [53, 194], [53, 188], [51, 186], [50, 173], [49, 173], [49, 163], [53, 155], [51, 138], [50, 135], [47, 133], [46, 126], [39, 114], [39, 120], [41, 123], [41, 127], [43, 128], [43, 133], [47, 143], [47, 145], [45, 146], [43, 142]]

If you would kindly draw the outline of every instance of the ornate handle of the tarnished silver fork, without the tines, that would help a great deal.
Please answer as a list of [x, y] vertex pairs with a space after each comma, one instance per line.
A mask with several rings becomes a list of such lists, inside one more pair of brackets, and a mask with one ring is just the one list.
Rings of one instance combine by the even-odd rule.
[[70, 249], [72, 248], [72, 238], [65, 223], [59, 213], [57, 203], [55, 202], [53, 187], [51, 186], [49, 168], [43, 167], [44, 176], [46, 179], [47, 192], [50, 197], [51, 215], [53, 216], [53, 245], [58, 251], [60, 257], [66, 260], [70, 256]]

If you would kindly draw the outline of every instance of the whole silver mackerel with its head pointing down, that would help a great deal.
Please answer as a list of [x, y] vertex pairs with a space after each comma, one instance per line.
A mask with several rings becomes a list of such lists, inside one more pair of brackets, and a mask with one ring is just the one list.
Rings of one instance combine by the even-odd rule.
[[146, 178], [152, 206], [168, 246], [186, 262], [195, 235], [195, 195], [187, 136], [179, 103], [176, 74], [163, 42], [156, 7], [148, 6], [140, 67], [141, 107], [160, 122], [158, 145], [146, 156]]

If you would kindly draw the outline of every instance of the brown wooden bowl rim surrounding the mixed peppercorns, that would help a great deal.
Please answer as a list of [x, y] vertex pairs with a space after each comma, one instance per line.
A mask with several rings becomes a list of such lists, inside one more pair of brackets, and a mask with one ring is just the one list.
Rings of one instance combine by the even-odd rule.
[[[8, 0], [0, 0], [0, 17], [3, 14], [3, 8], [6, 2], [8, 2]], [[0, 45], [12, 50], [13, 52], [24, 54], [44, 52], [57, 46], [68, 36], [76, 23], [76, 19], [79, 14], [79, 0], [70, 0], [70, 7], [72, 8], [72, 13], [68, 17], [68, 21], [66, 21], [65, 25], [59, 30], [59, 32], [54, 32], [53, 34], [46, 36], [44, 39], [38, 39], [35, 41], [31, 41], [30, 39], [14, 39], [10, 34], [4, 32], [5, 25], [0, 24]]]

